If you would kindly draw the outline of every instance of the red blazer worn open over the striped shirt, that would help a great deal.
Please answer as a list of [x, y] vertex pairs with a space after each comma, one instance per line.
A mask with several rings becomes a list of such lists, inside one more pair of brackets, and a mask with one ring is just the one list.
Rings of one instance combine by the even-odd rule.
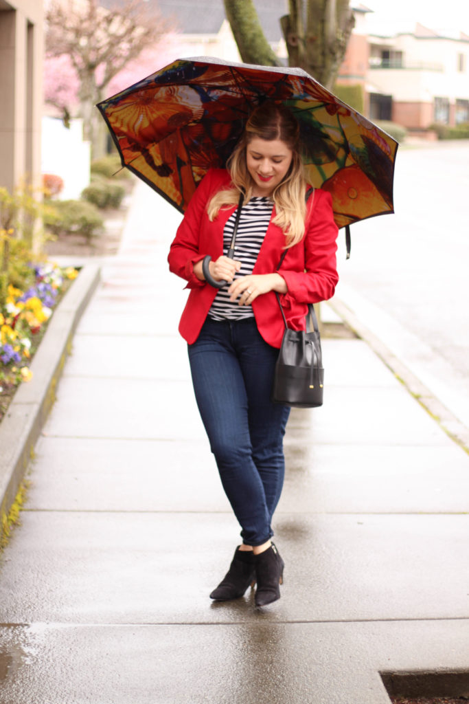
[[[188, 205], [169, 250], [169, 269], [186, 279], [186, 288], [191, 289], [179, 323], [179, 332], [188, 344], [193, 344], [198, 338], [217, 295], [217, 289], [195, 276], [193, 266], [207, 254], [213, 260], [223, 254], [224, 226], [236, 208], [232, 206], [227, 210], [219, 210], [217, 218], [210, 222], [207, 203], [217, 191], [228, 188], [230, 183], [226, 170], [211, 169], [207, 173]], [[253, 274], [271, 274], [276, 271], [283, 253], [285, 234], [273, 224], [274, 217], [275, 207]], [[288, 288], [286, 294], [281, 294], [281, 305], [288, 327], [295, 330], [304, 329], [307, 304], [326, 301], [333, 296], [338, 282], [335, 262], [338, 227], [333, 220], [332, 199], [326, 191], [316, 189], [314, 199], [310, 196], [305, 225], [304, 238], [287, 250], [278, 270]], [[252, 310], [264, 340], [279, 348], [285, 326], [274, 291], [255, 298]]]

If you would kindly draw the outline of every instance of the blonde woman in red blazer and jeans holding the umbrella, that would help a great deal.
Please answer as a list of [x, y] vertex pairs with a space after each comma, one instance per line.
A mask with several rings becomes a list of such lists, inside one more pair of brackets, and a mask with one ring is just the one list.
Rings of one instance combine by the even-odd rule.
[[[244, 193], [234, 259], [229, 248]], [[299, 127], [281, 103], [250, 115], [227, 170], [210, 170], [184, 215], [169, 268], [191, 289], [179, 325], [188, 342], [200, 415], [233, 511], [242, 528], [229, 571], [210, 594], [225, 601], [257, 582], [255, 603], [280, 598], [283, 560], [271, 538], [281, 495], [283, 435], [290, 409], [271, 403], [283, 320], [304, 329], [307, 304], [333, 295], [337, 227], [330, 194], [306, 202]], [[282, 253], [285, 258], [277, 271]], [[225, 281], [212, 287], [203, 273]]]

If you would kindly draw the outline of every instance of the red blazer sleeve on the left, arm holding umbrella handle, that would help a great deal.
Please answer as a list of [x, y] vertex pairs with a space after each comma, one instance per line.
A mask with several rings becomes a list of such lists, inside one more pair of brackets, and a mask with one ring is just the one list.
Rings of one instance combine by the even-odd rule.
[[184, 218], [176, 231], [176, 237], [169, 248], [169, 270], [186, 279], [186, 288], [194, 289], [205, 286], [194, 274], [194, 264], [203, 259], [207, 252], [199, 249], [200, 229], [204, 218], [207, 218], [207, 202], [214, 192], [213, 172], [207, 175], [198, 185], [188, 204]]

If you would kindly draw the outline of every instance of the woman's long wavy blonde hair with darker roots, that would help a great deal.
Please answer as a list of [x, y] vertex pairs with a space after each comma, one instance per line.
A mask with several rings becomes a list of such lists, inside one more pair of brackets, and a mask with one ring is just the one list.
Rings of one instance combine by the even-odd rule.
[[285, 178], [271, 194], [276, 209], [274, 223], [285, 233], [286, 249], [297, 244], [304, 235], [306, 180], [299, 149], [300, 127], [293, 113], [282, 103], [266, 101], [251, 113], [243, 136], [226, 162], [232, 187], [212, 197], [207, 206], [208, 217], [212, 221], [221, 208], [238, 205], [240, 191], [245, 194], [245, 203], [252, 198], [254, 182], [246, 164], [246, 147], [255, 137], [269, 142], [281, 139], [293, 151], [292, 163]]

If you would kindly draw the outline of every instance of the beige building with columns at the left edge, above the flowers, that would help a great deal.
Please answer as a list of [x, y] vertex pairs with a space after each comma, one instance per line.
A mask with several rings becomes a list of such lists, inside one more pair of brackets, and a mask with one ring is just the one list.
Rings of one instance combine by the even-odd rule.
[[41, 172], [44, 9], [41, 0], [0, 0], [0, 186]]

